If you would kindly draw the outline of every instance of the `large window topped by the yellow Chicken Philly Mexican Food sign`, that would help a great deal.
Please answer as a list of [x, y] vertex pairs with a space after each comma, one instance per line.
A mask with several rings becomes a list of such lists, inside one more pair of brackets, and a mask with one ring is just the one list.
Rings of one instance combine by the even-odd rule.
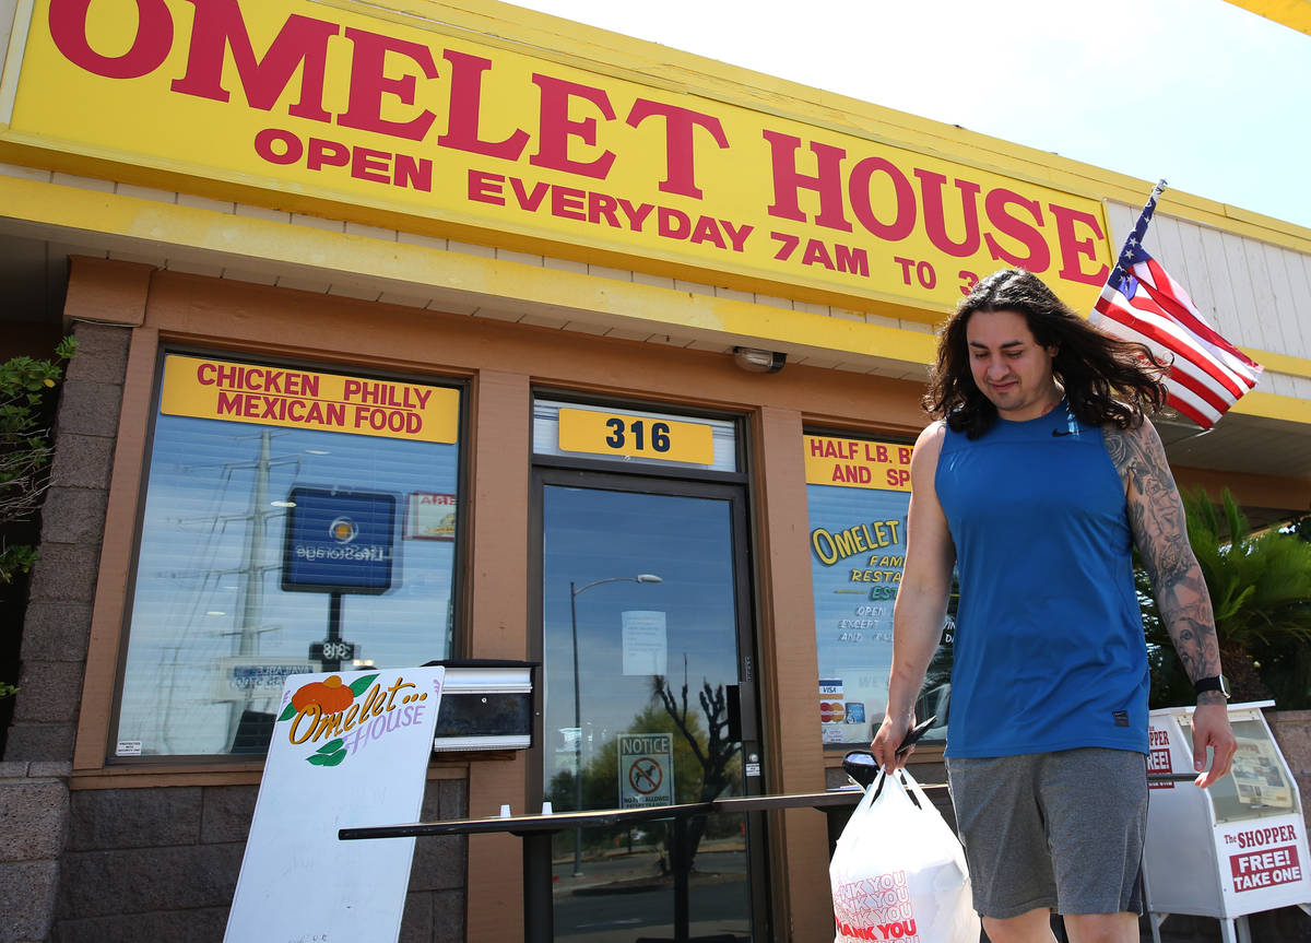
[[170, 354], [115, 757], [262, 753], [288, 674], [451, 652], [460, 393]]

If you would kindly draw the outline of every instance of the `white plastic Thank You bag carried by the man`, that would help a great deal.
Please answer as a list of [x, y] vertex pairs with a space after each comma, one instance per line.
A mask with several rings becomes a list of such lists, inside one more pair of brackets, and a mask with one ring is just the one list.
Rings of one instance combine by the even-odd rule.
[[978, 943], [965, 851], [905, 770], [880, 772], [865, 790], [838, 839], [829, 877], [834, 943]]

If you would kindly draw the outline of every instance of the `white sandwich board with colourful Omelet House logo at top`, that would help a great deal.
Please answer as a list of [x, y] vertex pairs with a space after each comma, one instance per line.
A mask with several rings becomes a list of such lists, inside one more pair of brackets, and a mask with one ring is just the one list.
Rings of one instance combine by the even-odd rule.
[[395, 940], [446, 669], [294, 674], [282, 691], [225, 943]]

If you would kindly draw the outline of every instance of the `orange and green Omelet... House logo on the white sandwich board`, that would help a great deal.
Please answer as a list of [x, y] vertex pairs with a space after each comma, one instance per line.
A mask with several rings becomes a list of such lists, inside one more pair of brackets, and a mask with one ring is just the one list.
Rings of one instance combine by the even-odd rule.
[[[340, 766], [370, 744], [423, 723], [427, 691], [401, 675], [391, 687], [383, 687], [378, 678], [366, 674], [347, 685], [332, 674], [300, 686], [278, 717], [279, 729], [286, 729], [292, 745], [315, 748], [305, 762]], [[433, 682], [433, 694], [440, 695], [440, 681]]]

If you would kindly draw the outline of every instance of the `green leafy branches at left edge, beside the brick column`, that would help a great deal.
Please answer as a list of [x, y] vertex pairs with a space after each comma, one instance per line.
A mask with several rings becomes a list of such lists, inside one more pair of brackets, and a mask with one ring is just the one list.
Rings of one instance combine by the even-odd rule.
[[[41, 509], [52, 451], [45, 428], [45, 397], [63, 375], [62, 362], [76, 350], [77, 342], [66, 337], [55, 348], [54, 359], [14, 357], [0, 363], [0, 586], [12, 584], [37, 563], [35, 548], [9, 543], [5, 529], [29, 521]], [[16, 690], [0, 682], [0, 698]]]

